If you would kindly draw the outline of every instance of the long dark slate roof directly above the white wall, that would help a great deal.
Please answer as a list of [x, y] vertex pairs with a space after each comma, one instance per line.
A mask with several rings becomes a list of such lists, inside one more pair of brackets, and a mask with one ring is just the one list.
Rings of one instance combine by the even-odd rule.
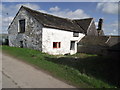
[[38, 22], [40, 22], [44, 27], [51, 27], [57, 29], [63, 29], [68, 31], [75, 31], [86, 34], [86, 30], [90, 25], [93, 18], [72, 20], [67, 18], [61, 18], [53, 16], [46, 13], [41, 13], [25, 6], [22, 6], [26, 11], [28, 11]]

